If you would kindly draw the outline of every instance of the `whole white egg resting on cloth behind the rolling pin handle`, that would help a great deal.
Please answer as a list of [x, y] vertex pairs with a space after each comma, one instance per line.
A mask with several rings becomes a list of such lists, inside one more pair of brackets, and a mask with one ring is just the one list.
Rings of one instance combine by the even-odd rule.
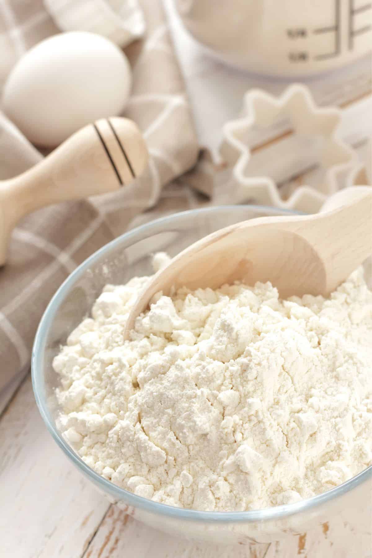
[[121, 114], [131, 85], [128, 59], [111, 41], [60, 33], [18, 61], [2, 108], [32, 143], [55, 147], [85, 124]]

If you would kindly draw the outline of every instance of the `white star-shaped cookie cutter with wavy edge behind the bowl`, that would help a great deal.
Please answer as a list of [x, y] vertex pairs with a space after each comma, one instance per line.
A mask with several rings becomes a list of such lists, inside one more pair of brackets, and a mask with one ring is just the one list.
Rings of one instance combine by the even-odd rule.
[[[225, 124], [220, 148], [224, 160], [234, 165], [233, 183], [239, 189], [239, 199], [235, 199], [235, 203], [249, 199], [263, 205], [315, 213], [325, 199], [339, 189], [339, 173], [346, 174], [346, 184], [353, 184], [360, 163], [354, 150], [337, 136], [341, 110], [317, 107], [305, 86], [290, 85], [279, 98], [259, 89], [250, 90], [244, 97], [243, 115]], [[323, 141], [320, 163], [325, 173], [322, 184], [317, 188], [298, 186], [287, 200], [282, 198], [272, 178], [247, 174], [252, 155], [244, 136], [249, 128], [272, 126], [278, 117], [289, 117], [293, 131], [300, 136], [319, 136]]]

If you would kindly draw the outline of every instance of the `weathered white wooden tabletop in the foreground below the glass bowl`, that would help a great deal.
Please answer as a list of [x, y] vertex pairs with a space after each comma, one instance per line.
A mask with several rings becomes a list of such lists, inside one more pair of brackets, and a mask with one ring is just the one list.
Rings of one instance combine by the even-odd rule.
[[0, 417], [0, 448], [0, 558], [372, 556], [370, 533], [351, 532], [337, 519], [286, 541], [248, 546], [187, 541], [135, 521], [62, 454], [38, 413], [30, 376]]

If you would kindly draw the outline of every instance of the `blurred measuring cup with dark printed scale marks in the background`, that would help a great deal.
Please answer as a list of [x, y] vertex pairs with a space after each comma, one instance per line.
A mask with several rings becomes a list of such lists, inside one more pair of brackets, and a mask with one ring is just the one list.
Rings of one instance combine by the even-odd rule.
[[195, 38], [226, 62], [272, 76], [340, 68], [371, 52], [369, 0], [176, 0]]

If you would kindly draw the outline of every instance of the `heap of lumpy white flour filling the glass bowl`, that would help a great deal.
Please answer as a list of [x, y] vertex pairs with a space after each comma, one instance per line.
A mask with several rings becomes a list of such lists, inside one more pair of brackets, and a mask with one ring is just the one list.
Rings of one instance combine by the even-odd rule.
[[[156, 266], [165, 262], [157, 256]], [[107, 285], [54, 360], [60, 428], [86, 464], [172, 506], [242, 511], [324, 492], [372, 463], [372, 293], [330, 299], [266, 283], [156, 304]]]

